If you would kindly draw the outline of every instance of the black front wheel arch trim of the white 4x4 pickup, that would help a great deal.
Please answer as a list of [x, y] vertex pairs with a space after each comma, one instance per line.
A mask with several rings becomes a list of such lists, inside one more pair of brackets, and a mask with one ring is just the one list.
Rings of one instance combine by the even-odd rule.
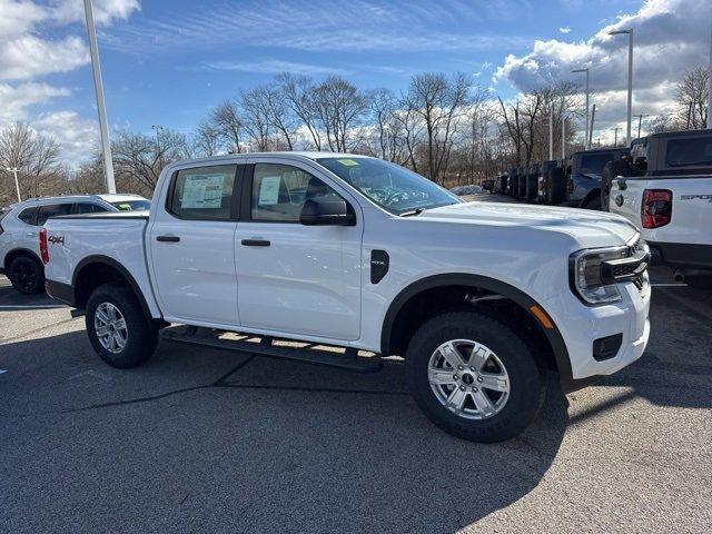
[[[380, 354], [388, 356], [393, 354], [393, 349], [396, 348], [396, 330], [398, 328], [399, 318], [403, 317], [402, 313], [408, 309], [409, 303], [414, 303], [418, 296], [426, 295], [428, 291], [445, 289], [445, 288], [468, 288], [471, 290], [479, 290], [485, 294], [502, 296], [504, 299], [513, 303], [520, 308], [520, 312], [525, 314], [532, 324], [536, 324], [541, 334], [545, 337], [548, 348], [551, 348], [551, 356], [554, 359], [556, 370], [560, 374], [562, 384], [567, 385], [572, 380], [571, 359], [568, 357], [568, 350], [564, 338], [558, 330], [556, 324], [551, 319], [544, 308], [531, 296], [521, 289], [482, 275], [473, 274], [445, 274], [434, 275], [406, 286], [398, 293], [393, 299], [386, 315], [384, 317], [383, 327], [380, 332]], [[465, 304], [465, 303], [463, 303]], [[551, 328], [544, 328], [542, 320], [532, 312], [532, 308], [538, 309], [546, 315], [546, 319], [551, 323]]]

